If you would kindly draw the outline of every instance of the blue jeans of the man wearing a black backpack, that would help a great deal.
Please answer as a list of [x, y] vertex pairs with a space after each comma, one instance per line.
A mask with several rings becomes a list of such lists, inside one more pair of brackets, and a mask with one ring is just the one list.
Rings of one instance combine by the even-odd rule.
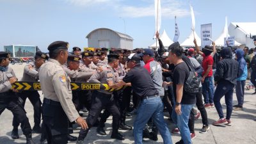
[[190, 131], [188, 127], [189, 114], [194, 104], [181, 104], [181, 115], [177, 115], [175, 109], [172, 111], [172, 120], [180, 130], [181, 139], [184, 144], [191, 144]]

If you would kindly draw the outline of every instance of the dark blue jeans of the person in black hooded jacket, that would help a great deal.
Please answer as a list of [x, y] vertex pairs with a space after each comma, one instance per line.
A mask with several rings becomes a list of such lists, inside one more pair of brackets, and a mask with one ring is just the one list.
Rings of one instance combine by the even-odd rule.
[[222, 106], [220, 104], [220, 99], [225, 95], [225, 103], [227, 106], [226, 119], [230, 120], [232, 110], [233, 110], [233, 106], [232, 106], [233, 92], [234, 92], [233, 88], [234, 88], [234, 84], [231, 84], [231, 83], [217, 85], [213, 100], [214, 100], [215, 108], [216, 108], [220, 118], [224, 118]]

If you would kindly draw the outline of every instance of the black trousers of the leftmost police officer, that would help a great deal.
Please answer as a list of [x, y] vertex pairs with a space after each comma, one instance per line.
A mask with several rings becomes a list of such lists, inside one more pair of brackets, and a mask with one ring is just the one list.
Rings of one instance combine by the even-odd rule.
[[12, 111], [13, 117], [20, 123], [20, 127], [24, 135], [31, 134], [31, 126], [29, 124], [28, 117], [26, 116], [26, 111], [22, 108], [18, 98], [14, 93], [6, 95], [6, 97], [0, 93], [0, 115], [3, 113], [4, 109]]

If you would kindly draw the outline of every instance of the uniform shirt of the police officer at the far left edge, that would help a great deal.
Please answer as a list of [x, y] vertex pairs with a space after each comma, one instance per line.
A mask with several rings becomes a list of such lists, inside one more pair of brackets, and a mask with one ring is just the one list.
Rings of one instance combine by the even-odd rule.
[[11, 77], [16, 77], [12, 68], [6, 67], [4, 71], [0, 70], [0, 93], [8, 92], [12, 88], [9, 81]]

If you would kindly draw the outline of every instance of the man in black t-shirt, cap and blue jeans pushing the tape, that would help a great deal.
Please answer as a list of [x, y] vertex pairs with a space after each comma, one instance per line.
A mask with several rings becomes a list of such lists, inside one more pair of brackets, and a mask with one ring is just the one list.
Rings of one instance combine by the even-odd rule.
[[158, 95], [158, 91], [154, 86], [152, 78], [144, 67], [140, 67], [140, 56], [138, 54], [130, 54], [128, 57], [127, 67], [131, 70], [119, 83], [109, 83], [111, 88], [120, 88], [127, 83], [131, 83], [134, 92], [141, 97], [141, 103], [134, 120], [134, 142], [142, 143], [143, 128], [147, 124], [150, 117], [153, 118], [159, 132], [163, 138], [164, 144], [172, 144], [170, 131], [163, 116], [163, 102]]

